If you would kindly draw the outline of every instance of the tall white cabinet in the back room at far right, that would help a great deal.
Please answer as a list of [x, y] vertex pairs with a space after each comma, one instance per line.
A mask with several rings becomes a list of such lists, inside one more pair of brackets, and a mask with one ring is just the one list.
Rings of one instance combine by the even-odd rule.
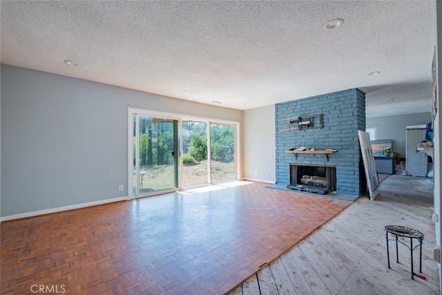
[[428, 160], [425, 153], [419, 153], [417, 144], [425, 140], [425, 125], [407, 126], [405, 146], [405, 171], [407, 175], [427, 176]]

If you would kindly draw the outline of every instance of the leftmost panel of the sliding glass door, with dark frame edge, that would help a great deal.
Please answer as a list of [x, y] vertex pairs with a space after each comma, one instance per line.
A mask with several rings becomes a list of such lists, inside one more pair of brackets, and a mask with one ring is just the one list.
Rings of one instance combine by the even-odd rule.
[[133, 198], [178, 187], [178, 121], [132, 115]]

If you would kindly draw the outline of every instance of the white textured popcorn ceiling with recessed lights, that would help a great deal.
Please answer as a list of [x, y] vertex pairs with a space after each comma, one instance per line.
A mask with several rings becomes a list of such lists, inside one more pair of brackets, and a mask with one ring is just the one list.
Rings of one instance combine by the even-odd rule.
[[[240, 110], [361, 88], [368, 117], [431, 111], [435, 1], [1, 1], [0, 10], [3, 64]], [[336, 18], [342, 26], [323, 29]]]

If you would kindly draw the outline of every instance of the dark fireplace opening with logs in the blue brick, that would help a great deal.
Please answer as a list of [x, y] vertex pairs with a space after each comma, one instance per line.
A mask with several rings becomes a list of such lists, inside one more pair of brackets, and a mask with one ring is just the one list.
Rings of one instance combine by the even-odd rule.
[[336, 166], [290, 164], [287, 188], [322, 195], [336, 191]]

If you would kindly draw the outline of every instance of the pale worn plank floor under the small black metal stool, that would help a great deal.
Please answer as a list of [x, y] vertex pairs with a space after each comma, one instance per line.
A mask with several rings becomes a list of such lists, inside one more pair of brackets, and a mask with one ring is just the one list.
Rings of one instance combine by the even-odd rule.
[[[359, 198], [309, 237], [249, 277], [229, 295], [238, 294], [440, 294], [433, 260], [433, 191], [429, 178], [392, 175], [381, 182], [376, 200]], [[385, 225], [421, 231], [422, 272], [410, 278], [410, 250], [399, 244], [396, 263], [390, 242], [387, 268]], [[419, 271], [419, 248], [414, 272]]]

